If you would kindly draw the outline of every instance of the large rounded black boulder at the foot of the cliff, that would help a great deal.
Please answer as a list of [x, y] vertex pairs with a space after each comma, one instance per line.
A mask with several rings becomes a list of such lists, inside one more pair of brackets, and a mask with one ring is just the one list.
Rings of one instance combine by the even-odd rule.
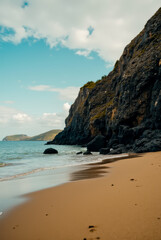
[[96, 136], [92, 141], [87, 144], [88, 151], [99, 152], [101, 148], [106, 146], [106, 138], [102, 135]]

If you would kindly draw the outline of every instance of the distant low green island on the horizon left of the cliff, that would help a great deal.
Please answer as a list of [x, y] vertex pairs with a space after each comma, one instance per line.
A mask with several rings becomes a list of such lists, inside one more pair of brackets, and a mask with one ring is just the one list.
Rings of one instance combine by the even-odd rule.
[[60, 129], [54, 129], [33, 137], [25, 134], [10, 135], [3, 138], [2, 141], [50, 141], [61, 131]]

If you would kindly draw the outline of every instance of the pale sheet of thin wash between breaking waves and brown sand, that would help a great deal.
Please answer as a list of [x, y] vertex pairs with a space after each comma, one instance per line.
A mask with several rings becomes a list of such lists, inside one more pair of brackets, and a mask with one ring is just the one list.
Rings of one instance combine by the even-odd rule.
[[[106, 158], [109, 158], [107, 161], [111, 162], [115, 161], [115, 159], [119, 160], [127, 157], [127, 155], [128, 154], [113, 156], [104, 155], [104, 157], [101, 156], [101, 160], [99, 160], [99, 156], [96, 155], [98, 159], [89, 163], [51, 167], [49, 169], [46, 167], [39, 168], [26, 173], [2, 178], [0, 179], [0, 212], [3, 212], [4, 215], [4, 212], [10, 211], [14, 207], [23, 204], [26, 201], [25, 195], [27, 194], [70, 182], [70, 175], [72, 175], [72, 173], [101, 164], [102, 161], [104, 161], [105, 156]], [[95, 175], [96, 171], [91, 177], [95, 177]], [[86, 174], [86, 177], [84, 176], [84, 178], [89, 178], [89, 176]]]

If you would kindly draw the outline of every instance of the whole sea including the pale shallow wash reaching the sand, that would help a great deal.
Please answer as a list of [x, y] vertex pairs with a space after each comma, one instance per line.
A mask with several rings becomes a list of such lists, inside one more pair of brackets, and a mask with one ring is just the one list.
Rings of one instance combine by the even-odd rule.
[[[99, 153], [77, 154], [86, 151], [81, 146], [45, 143], [0, 141], [0, 216], [25, 201], [26, 194], [67, 183], [76, 169], [107, 159]], [[58, 154], [43, 154], [50, 147]]]

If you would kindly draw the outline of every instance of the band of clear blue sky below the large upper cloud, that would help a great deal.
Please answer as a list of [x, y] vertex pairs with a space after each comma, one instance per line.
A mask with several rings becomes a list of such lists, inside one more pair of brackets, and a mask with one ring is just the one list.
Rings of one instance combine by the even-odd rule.
[[[63, 98], [59, 92], [45, 90], [45, 86], [75, 87], [77, 91], [87, 81], [96, 81], [111, 69], [106, 68], [97, 54], [91, 54], [92, 58], [88, 59], [67, 48], [51, 49], [43, 40], [23, 41], [18, 45], [1, 43], [0, 46], [1, 102], [11, 101], [12, 106], [28, 114], [36, 111], [40, 115], [44, 110], [59, 112], [65, 100], [71, 104], [77, 95]], [[34, 91], [35, 86], [44, 88]]]

